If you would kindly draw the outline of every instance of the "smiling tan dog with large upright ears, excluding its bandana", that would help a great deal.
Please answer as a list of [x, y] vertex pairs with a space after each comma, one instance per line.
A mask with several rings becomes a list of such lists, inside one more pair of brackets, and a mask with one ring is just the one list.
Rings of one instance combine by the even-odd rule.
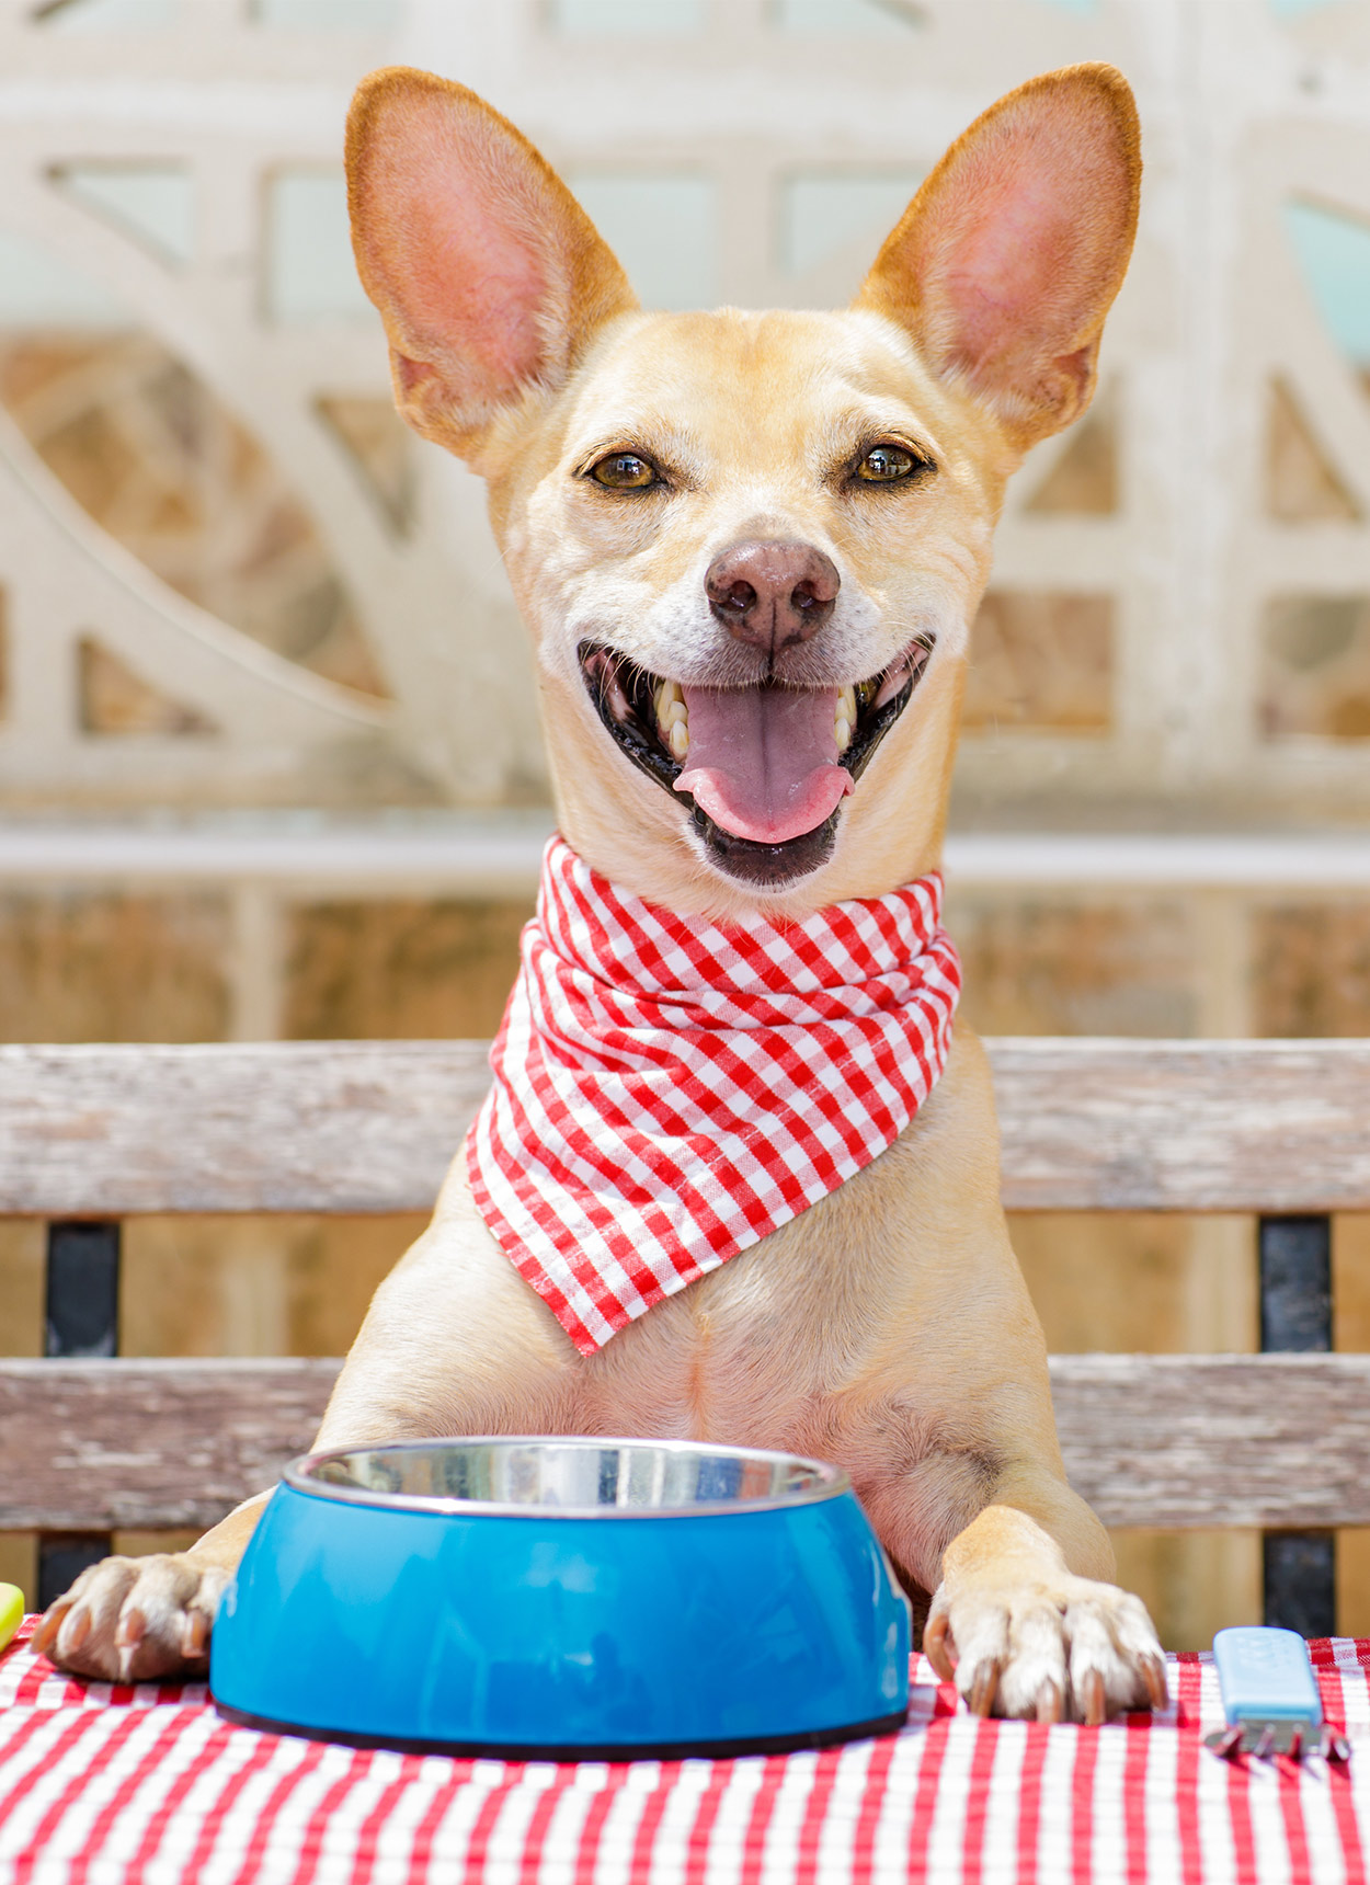
[[[400, 411], [490, 484], [569, 844], [616, 886], [722, 922], [937, 869], [1004, 481], [1085, 409], [1133, 243], [1119, 74], [1053, 72], [980, 117], [846, 313], [643, 313], [524, 138], [422, 72], [362, 85], [347, 162]], [[727, 696], [731, 741], [720, 773], [699, 763], [718, 729], [695, 729], [693, 786], [690, 690]], [[464, 1433], [839, 1461], [931, 1597], [923, 1644], [974, 1710], [1102, 1721], [1165, 1700], [1146, 1610], [1106, 1582], [1108, 1538], [1065, 1480], [965, 1025], [888, 1152], [588, 1357], [458, 1159], [317, 1444]], [[89, 1676], [204, 1670], [264, 1499], [185, 1555], [85, 1572], [38, 1646]]]

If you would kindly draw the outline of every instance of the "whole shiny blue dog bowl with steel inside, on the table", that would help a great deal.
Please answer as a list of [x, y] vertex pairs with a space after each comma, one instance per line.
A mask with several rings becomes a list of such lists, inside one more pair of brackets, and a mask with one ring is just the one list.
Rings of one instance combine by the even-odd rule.
[[213, 1634], [230, 1721], [528, 1759], [880, 1734], [908, 1606], [837, 1467], [652, 1440], [298, 1459]]

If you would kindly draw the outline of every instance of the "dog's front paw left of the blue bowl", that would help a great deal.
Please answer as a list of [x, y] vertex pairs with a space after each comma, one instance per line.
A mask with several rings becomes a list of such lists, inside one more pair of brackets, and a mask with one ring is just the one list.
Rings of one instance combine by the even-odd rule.
[[204, 1676], [228, 1578], [183, 1551], [106, 1557], [49, 1606], [34, 1649], [73, 1676], [102, 1681]]

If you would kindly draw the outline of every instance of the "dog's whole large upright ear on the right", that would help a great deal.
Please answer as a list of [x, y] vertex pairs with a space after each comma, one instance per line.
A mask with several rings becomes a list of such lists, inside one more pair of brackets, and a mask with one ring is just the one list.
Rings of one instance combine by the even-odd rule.
[[986, 400], [1018, 447], [1076, 418], [1123, 281], [1142, 179], [1114, 66], [1001, 98], [952, 145], [861, 285], [927, 364]]

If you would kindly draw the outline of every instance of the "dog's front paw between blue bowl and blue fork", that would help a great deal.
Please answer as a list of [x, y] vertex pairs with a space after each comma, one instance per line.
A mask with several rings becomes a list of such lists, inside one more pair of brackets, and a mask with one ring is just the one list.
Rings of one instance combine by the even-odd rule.
[[927, 1659], [976, 1715], [1085, 1721], [1165, 1708], [1165, 1651], [1146, 1604], [1114, 1583], [1065, 1578], [933, 1598]]

